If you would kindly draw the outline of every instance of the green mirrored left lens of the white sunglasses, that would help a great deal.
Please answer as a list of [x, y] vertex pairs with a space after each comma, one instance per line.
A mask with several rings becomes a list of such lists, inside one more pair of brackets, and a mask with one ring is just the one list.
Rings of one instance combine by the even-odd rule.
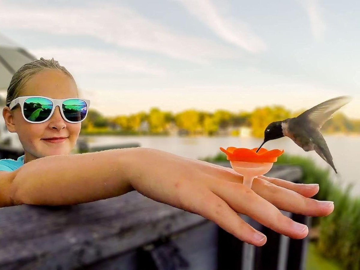
[[24, 116], [32, 122], [46, 120], [53, 109], [53, 103], [46, 98], [28, 98], [24, 102]]

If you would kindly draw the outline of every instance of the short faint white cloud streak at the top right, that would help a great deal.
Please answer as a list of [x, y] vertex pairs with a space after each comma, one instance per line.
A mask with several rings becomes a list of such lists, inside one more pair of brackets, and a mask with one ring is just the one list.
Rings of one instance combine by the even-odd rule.
[[316, 40], [322, 40], [326, 30], [326, 24], [321, 14], [319, 0], [301, 0], [310, 19], [312, 35]]

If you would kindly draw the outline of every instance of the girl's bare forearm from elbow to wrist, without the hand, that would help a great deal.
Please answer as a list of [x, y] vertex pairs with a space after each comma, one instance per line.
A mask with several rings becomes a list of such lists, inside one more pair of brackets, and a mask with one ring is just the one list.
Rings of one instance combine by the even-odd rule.
[[22, 166], [11, 187], [14, 204], [64, 205], [116, 197], [130, 184], [141, 148], [39, 158]]

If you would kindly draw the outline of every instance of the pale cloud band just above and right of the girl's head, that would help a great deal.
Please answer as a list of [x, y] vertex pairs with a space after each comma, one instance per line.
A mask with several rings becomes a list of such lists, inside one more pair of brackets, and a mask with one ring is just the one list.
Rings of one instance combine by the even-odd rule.
[[128, 74], [162, 76], [165, 69], [149, 64], [145, 60], [118, 54], [116, 51], [89, 48], [39, 48], [30, 49], [37, 58], [54, 58], [70, 72], [78, 75]]

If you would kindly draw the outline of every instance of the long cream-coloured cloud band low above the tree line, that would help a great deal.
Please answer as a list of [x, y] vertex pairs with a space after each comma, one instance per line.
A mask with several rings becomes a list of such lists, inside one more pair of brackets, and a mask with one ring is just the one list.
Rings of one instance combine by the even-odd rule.
[[[104, 93], [106, 94], [104, 95]], [[309, 95], [309, 93], [313, 95]], [[185, 82], [177, 86], [145, 87], [136, 90], [129, 86], [123, 87], [121, 91], [94, 91], [91, 98], [92, 100], [103, 100], [102, 104], [97, 103], [95, 105], [100, 111], [105, 110], [109, 114], [115, 114], [115, 111], [118, 111], [126, 114], [148, 110], [151, 107], [159, 107], [162, 110], [172, 112], [180, 112], [190, 108], [213, 112], [216, 109], [224, 109], [224, 104], [226, 104], [225, 109], [233, 112], [252, 111], [256, 107], [268, 106], [269, 104], [282, 105], [291, 111], [298, 111], [311, 108], [327, 99], [344, 94], [348, 93], [307, 83], [289, 83], [280, 79], [276, 84], [256, 85], [241, 83], [238, 85], [190, 85]], [[255, 95], [260, 98], [254, 98]], [[147, 96], [147, 98], [141, 99], [139, 98], [141, 96]], [[106, 104], [114, 99], [119, 100], [120, 107], [106, 109]], [[137, 100], [137, 102], [129, 103], [127, 100]], [[344, 107], [342, 112], [351, 117], [360, 117], [359, 105], [360, 96], [352, 100], [346, 108]], [[109, 109], [113, 109], [114, 112], [109, 111]]]

